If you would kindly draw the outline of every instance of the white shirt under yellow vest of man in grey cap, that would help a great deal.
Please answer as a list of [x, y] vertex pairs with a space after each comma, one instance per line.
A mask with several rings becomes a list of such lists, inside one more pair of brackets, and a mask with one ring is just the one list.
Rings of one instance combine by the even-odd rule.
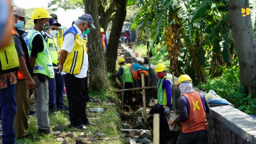
[[[83, 36], [83, 33], [81, 32], [81, 30], [76, 26], [76, 24], [73, 24], [73, 26], [76, 28], [76, 31], [78, 32], [81, 40], [83, 40], [84, 36]], [[70, 52], [72, 52], [72, 50], [74, 49], [74, 46], [75, 46], [74, 34], [72, 32], [69, 32], [64, 37], [64, 41], [63, 41], [63, 44], [61, 46], [61, 49], [67, 51], [67, 53], [70, 54]], [[84, 49], [85, 49], [85, 45], [84, 45]], [[87, 77], [88, 66], [89, 66], [88, 55], [87, 55], [87, 52], [84, 51], [84, 60], [83, 60], [83, 64], [82, 64], [82, 67], [81, 67], [81, 71], [79, 72], [79, 74], [75, 75], [76, 78], [85, 78], [85, 77]], [[62, 71], [61, 74], [65, 75], [67, 73]]]

